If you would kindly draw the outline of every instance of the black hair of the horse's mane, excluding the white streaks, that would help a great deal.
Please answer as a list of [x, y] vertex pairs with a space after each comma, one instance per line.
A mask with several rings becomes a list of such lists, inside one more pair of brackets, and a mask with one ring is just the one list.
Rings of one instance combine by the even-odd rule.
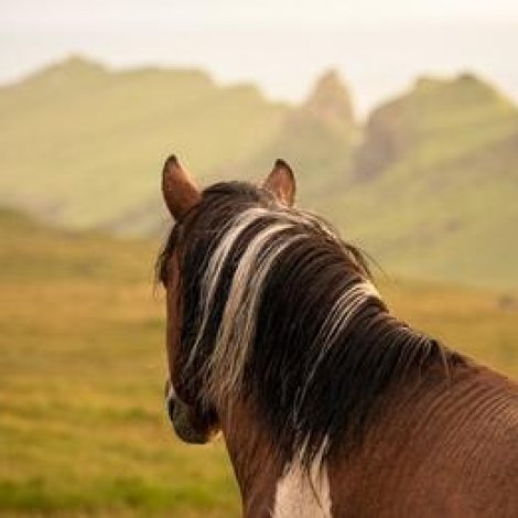
[[[229, 251], [207, 326], [190, 361], [211, 256], [224, 229], [252, 207], [265, 207], [267, 213], [246, 228]], [[445, 375], [449, 366], [463, 359], [392, 317], [375, 295], [366, 298], [323, 354], [322, 328], [341, 295], [370, 281], [367, 261], [325, 222], [280, 207], [272, 195], [252, 185], [220, 183], [204, 191], [199, 205], [175, 225], [157, 262], [158, 276], [166, 285], [169, 259], [177, 250], [183, 315], [175, 379], [185, 401], [212, 404], [206, 393], [208, 365], [234, 273], [253, 237], [283, 213], [300, 217], [300, 223], [282, 238], [301, 238], [287, 248], [265, 279], [242, 385], [239, 393], [230, 396], [252, 398], [283, 458], [300, 454], [309, 466], [316, 455], [325, 458], [337, 449], [358, 444], [381, 398], [391, 390], [419, 384], [432, 366], [440, 366]]]

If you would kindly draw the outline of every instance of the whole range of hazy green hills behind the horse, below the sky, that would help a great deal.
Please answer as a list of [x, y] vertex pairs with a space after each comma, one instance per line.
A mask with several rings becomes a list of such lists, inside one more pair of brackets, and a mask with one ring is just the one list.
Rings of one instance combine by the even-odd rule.
[[325, 73], [301, 106], [193, 69], [111, 72], [71, 58], [0, 88], [0, 205], [58, 226], [155, 235], [159, 171], [202, 185], [298, 172], [299, 201], [387, 271], [518, 287], [518, 110], [464, 74], [422, 78], [360, 125]]

